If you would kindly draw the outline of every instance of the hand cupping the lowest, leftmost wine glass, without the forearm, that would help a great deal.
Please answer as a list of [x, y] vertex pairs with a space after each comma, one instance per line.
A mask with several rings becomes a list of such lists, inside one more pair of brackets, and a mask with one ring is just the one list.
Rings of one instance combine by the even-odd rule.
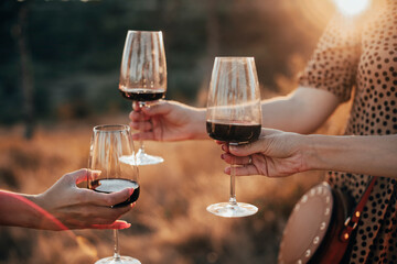
[[[77, 184], [87, 179], [88, 172], [88, 169], [79, 169], [66, 174], [45, 193], [29, 197], [31, 201], [44, 209], [44, 215], [49, 213], [42, 216], [42, 221], [35, 228], [63, 230], [125, 229], [130, 227], [126, 221], [117, 219], [131, 210], [135, 204], [121, 208], [111, 208], [111, 206], [127, 200], [133, 189], [126, 188], [118, 193], [101, 194], [78, 188]], [[96, 177], [99, 174], [100, 172], [92, 170], [90, 176]]]

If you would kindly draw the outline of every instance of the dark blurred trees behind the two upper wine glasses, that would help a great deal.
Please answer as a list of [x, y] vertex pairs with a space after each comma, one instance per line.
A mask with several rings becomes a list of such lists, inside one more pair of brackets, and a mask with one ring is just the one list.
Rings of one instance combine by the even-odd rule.
[[128, 111], [116, 91], [128, 30], [163, 31], [168, 99], [194, 103], [215, 56], [255, 56], [259, 82], [277, 92], [278, 76], [296, 74], [291, 57], [308, 57], [321, 33], [311, 15], [320, 3], [301, 1], [311, 8], [294, 0], [0, 1], [0, 124]]

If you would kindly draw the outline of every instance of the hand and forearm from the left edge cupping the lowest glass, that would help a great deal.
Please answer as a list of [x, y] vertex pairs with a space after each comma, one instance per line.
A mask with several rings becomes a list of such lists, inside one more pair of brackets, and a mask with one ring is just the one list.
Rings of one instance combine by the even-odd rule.
[[131, 189], [111, 195], [99, 194], [77, 185], [100, 172], [82, 168], [63, 175], [53, 186], [39, 195], [0, 190], [0, 226], [42, 230], [126, 229], [130, 223], [118, 220], [133, 204], [111, 208], [130, 196]]

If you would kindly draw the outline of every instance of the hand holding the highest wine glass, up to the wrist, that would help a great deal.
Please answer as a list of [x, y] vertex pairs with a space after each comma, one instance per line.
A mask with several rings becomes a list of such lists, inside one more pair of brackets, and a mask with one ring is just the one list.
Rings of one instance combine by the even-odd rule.
[[132, 103], [130, 127], [139, 132], [133, 140], [181, 141], [208, 139], [205, 131], [205, 109], [161, 100], [144, 108]]

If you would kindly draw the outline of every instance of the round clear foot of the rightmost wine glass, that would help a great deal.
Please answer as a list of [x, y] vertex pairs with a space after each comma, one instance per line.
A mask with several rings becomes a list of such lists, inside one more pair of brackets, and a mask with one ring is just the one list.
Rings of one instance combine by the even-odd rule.
[[258, 211], [258, 208], [245, 202], [237, 202], [237, 205], [232, 205], [230, 202], [219, 202], [208, 206], [206, 210], [218, 217], [238, 218], [253, 216]]

